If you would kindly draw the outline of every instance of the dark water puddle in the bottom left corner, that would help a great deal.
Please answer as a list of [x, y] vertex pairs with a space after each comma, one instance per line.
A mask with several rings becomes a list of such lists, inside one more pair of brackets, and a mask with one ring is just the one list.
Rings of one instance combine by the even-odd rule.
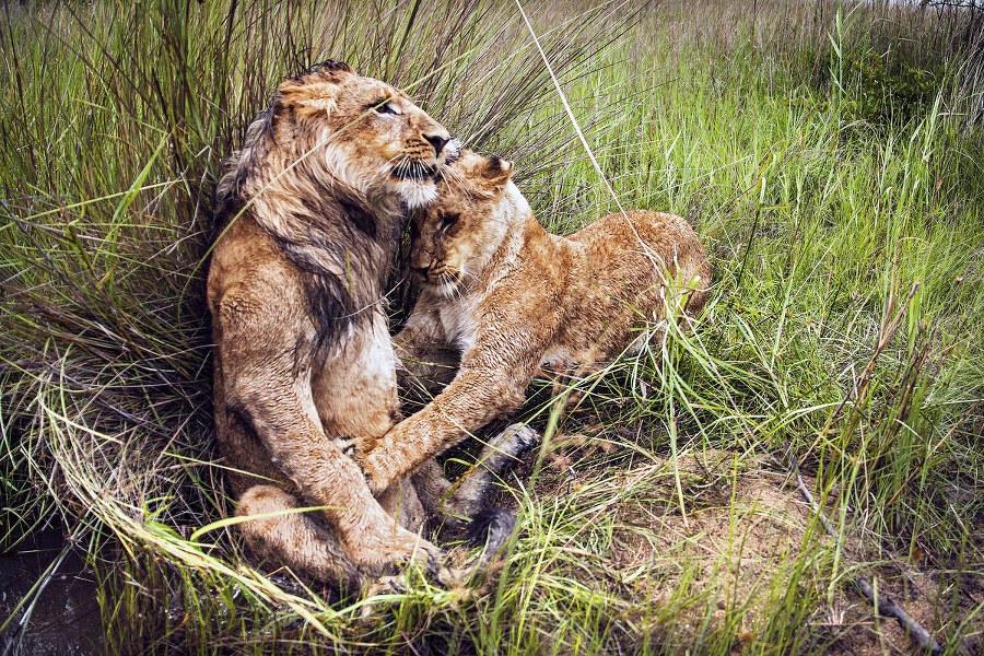
[[[44, 585], [40, 594], [30, 595], [38, 582]], [[25, 596], [26, 602], [17, 608]], [[95, 579], [82, 554], [66, 546], [60, 530], [38, 531], [0, 555], [0, 624], [11, 613], [0, 633], [0, 656], [104, 653]]]

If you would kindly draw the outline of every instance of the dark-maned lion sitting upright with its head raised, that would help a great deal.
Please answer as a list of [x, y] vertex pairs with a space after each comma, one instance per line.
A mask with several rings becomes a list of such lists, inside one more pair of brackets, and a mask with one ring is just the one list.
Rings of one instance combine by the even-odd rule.
[[[345, 454], [400, 417], [384, 285], [408, 209], [458, 150], [407, 95], [329, 61], [278, 87], [216, 189], [215, 424], [236, 514], [257, 516], [242, 531], [261, 558], [349, 589], [414, 553], [437, 566], [413, 531], [440, 471], [377, 501]], [[301, 506], [321, 507], [283, 512]]]

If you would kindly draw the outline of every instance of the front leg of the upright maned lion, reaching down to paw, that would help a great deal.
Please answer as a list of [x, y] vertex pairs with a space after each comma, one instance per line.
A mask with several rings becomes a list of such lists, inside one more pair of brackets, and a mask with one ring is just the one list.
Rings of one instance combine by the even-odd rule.
[[[223, 344], [236, 348], [235, 353], [220, 352], [227, 406], [251, 425], [305, 503], [324, 507], [323, 517], [360, 570], [382, 573], [414, 554], [438, 570], [440, 550], [397, 525], [366, 487], [359, 466], [325, 433], [311, 386], [314, 349], [290, 329], [303, 321], [260, 321], [256, 313], [239, 321], [243, 304], [223, 300], [220, 312]], [[253, 505], [246, 504], [246, 514]], [[289, 553], [283, 560], [293, 564]]]

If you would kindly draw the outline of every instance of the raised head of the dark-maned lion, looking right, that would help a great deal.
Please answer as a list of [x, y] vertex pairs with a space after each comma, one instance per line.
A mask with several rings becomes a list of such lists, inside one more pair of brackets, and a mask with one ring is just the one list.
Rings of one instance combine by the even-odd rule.
[[[407, 94], [327, 61], [285, 80], [269, 118], [270, 137], [298, 166], [368, 199], [396, 196], [414, 208], [434, 199], [441, 168], [460, 142]], [[290, 164], [289, 162], [286, 164]]]

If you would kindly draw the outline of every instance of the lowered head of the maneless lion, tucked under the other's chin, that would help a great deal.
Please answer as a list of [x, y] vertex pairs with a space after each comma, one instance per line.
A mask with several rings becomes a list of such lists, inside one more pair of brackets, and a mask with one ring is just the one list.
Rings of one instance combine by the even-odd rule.
[[513, 163], [469, 150], [442, 172], [437, 199], [410, 222], [410, 270], [448, 297], [480, 279], [529, 206], [513, 184]]

